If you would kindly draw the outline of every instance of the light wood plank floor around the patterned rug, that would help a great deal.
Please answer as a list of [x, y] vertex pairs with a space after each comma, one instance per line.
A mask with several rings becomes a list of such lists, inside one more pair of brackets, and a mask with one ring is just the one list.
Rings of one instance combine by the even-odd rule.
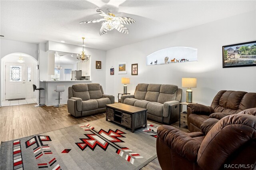
[[[35, 104], [0, 107], [0, 142], [14, 140], [33, 134], [44, 133], [59, 128], [94, 121], [106, 117], [105, 113], [75, 118], [64, 107], [34, 107]], [[160, 123], [158, 123], [160, 124]], [[162, 125], [162, 124], [160, 124]], [[176, 122], [172, 126], [179, 128]], [[179, 128], [187, 132], [187, 128]], [[161, 170], [158, 159], [155, 158], [142, 170]]]

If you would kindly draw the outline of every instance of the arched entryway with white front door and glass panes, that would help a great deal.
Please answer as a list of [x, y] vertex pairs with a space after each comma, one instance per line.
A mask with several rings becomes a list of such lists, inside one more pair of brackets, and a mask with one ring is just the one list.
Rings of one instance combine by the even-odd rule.
[[[20, 57], [24, 62], [19, 62]], [[35, 97], [32, 85], [37, 84], [37, 63], [26, 53], [11, 53], [1, 59], [1, 101]]]

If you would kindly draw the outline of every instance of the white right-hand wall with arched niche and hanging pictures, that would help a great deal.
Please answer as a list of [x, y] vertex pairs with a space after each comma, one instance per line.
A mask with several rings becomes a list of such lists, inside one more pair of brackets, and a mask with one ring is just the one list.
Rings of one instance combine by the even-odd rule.
[[[234, 21], [234, 25], [230, 25]], [[123, 92], [121, 77], [130, 77], [128, 93], [138, 83], [181, 86], [182, 77], [196, 77], [193, 101], [210, 105], [220, 90], [256, 92], [256, 67], [222, 68], [222, 46], [256, 40], [255, 11], [188, 28], [150, 40], [126, 45], [106, 52], [106, 94]], [[143, 33], [142, 33], [143, 34]], [[160, 49], [176, 46], [198, 49], [198, 61], [146, 66], [146, 57]], [[165, 57], [165, 56], [163, 56]], [[127, 74], [118, 74], [118, 63], [127, 61]], [[138, 63], [138, 75], [131, 75], [131, 64]], [[110, 67], [114, 75], [110, 75]], [[186, 88], [182, 101], [186, 101]]]

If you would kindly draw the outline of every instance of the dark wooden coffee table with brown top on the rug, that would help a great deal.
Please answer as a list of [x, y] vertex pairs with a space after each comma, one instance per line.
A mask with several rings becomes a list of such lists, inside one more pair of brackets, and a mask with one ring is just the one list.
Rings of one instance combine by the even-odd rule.
[[106, 105], [106, 121], [108, 119], [134, 132], [135, 128], [147, 127], [147, 109], [123, 103]]

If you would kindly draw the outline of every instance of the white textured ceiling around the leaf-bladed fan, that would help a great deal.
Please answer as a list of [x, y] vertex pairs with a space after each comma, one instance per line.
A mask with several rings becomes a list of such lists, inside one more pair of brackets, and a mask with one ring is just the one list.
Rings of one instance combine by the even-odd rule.
[[[128, 35], [117, 30], [99, 35], [100, 23], [79, 24], [101, 18], [97, 9], [112, 9], [116, 16], [133, 18]], [[3, 39], [40, 43], [47, 41], [113, 49], [123, 45], [256, 10], [245, 0], [1, 0], [0, 34]]]

